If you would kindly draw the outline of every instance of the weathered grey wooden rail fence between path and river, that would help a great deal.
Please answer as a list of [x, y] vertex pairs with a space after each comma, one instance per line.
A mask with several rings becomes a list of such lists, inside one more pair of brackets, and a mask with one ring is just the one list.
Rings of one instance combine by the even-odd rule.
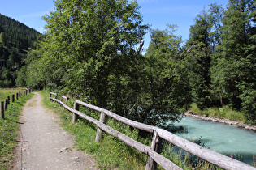
[[[181, 169], [176, 164], [172, 163], [169, 159], [163, 157], [163, 155], [160, 155], [158, 153], [158, 148], [161, 145], [161, 141], [162, 141], [161, 138], [165, 139], [168, 142], [171, 142], [176, 147], [180, 147], [184, 151], [188, 151], [192, 155], [196, 155], [197, 157], [206, 160], [210, 164], [215, 164], [219, 168], [237, 169], [237, 170], [238, 169], [239, 170], [241, 169], [255, 170], [256, 169], [253, 166], [250, 166], [249, 164], [242, 163], [241, 161], [238, 161], [236, 159], [232, 159], [228, 156], [221, 155], [215, 151], [206, 149], [205, 147], [201, 147], [193, 142], [189, 142], [188, 140], [184, 138], [180, 138], [179, 136], [172, 134], [167, 130], [160, 129], [152, 125], [145, 125], [137, 121], [129, 120], [125, 117], [121, 117], [115, 113], [112, 113], [104, 108], [99, 108], [92, 104], [86, 104], [79, 100], [76, 100], [74, 102], [74, 108], [70, 108], [67, 106], [67, 104], [64, 104], [63, 101], [53, 98], [52, 95], [56, 96], [57, 98], [56, 93], [50, 92], [50, 100], [53, 100], [55, 102], [58, 102], [59, 104], [62, 104], [63, 108], [66, 108], [69, 112], [73, 113], [73, 119], [72, 119], [73, 123], [75, 123], [77, 117], [80, 116], [85, 118], [87, 121], [93, 122], [93, 124], [98, 126], [98, 133], [97, 133], [95, 142], [99, 142], [102, 131], [105, 131], [106, 133], [111, 134], [116, 138], [119, 138], [120, 140], [125, 142], [128, 146], [133, 147], [138, 151], [141, 151], [142, 153], [148, 155], [149, 159], [145, 169], [155, 169], [156, 164], [159, 164], [164, 169]], [[66, 99], [65, 96], [62, 96], [62, 98]], [[85, 106], [87, 108], [92, 108], [93, 110], [100, 112], [101, 113], [100, 120], [98, 121], [96, 119], [93, 119], [92, 117], [85, 115], [84, 113], [81, 113], [79, 111], [79, 105]], [[121, 134], [119, 131], [112, 129], [110, 126], [105, 125], [104, 120], [106, 116], [112, 117], [116, 121], [120, 121], [125, 125], [130, 125], [133, 128], [137, 128], [139, 130], [145, 130], [147, 132], [153, 133], [154, 135], [152, 138], [151, 147], [145, 146], [141, 142], [137, 142], [132, 138], [129, 138], [124, 134]]]

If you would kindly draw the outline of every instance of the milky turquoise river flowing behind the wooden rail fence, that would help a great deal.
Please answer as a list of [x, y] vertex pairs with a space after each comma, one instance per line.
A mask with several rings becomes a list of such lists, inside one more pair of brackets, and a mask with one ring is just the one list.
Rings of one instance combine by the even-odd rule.
[[[178, 130], [178, 131], [176, 131]], [[190, 141], [198, 141], [205, 147], [228, 155], [247, 164], [256, 162], [256, 133], [233, 125], [202, 121], [184, 117], [176, 122], [171, 132]]]

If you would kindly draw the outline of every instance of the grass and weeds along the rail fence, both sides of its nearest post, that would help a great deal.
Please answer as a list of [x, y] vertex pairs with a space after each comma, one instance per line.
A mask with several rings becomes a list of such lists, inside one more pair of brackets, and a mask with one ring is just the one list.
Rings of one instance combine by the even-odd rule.
[[[46, 108], [49, 108], [54, 113], [58, 114], [64, 130], [67, 130], [70, 134], [76, 136], [75, 147], [79, 148], [85, 153], [93, 155], [93, 158], [98, 162], [98, 168], [101, 169], [145, 169], [148, 156], [142, 154], [140, 151], [129, 147], [118, 138], [111, 136], [110, 134], [103, 133], [102, 140], [100, 142], [94, 142], [96, 138], [97, 126], [93, 123], [86, 121], [83, 118], [78, 118], [75, 124], [72, 124], [72, 113], [67, 110], [63, 110], [63, 107], [59, 107], [58, 103], [49, 100], [49, 91], [40, 91], [43, 96], [43, 104]], [[60, 97], [60, 96], [59, 96]], [[67, 105], [72, 108], [76, 99], [69, 98]], [[92, 109], [80, 107], [80, 112], [85, 113], [89, 117], [99, 119], [100, 113], [93, 112]], [[139, 131], [133, 129], [128, 125], [124, 125], [111, 118], [107, 119], [106, 125], [118, 130], [122, 134], [145, 144], [151, 145], [151, 138], [141, 138]], [[200, 144], [200, 143], [199, 143]], [[173, 151], [174, 146], [166, 142], [163, 145], [161, 151], [162, 155], [167, 159], [170, 159], [173, 163], [177, 164], [183, 169], [220, 169], [212, 164], [206, 163], [206, 161], [198, 159], [196, 156], [190, 155], [184, 151]], [[176, 148], [175, 148], [176, 149]], [[163, 169], [158, 165], [157, 169]]]

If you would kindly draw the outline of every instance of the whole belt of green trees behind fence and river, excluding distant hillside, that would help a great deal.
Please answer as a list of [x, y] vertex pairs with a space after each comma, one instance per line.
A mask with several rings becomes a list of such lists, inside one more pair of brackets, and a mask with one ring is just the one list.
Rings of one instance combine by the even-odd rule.
[[[256, 120], [256, 3], [211, 4], [189, 40], [143, 24], [136, 1], [55, 2], [45, 38], [30, 50], [17, 82], [48, 87], [149, 125], [165, 127], [196, 104], [228, 106]], [[143, 36], [150, 32], [145, 54]]]

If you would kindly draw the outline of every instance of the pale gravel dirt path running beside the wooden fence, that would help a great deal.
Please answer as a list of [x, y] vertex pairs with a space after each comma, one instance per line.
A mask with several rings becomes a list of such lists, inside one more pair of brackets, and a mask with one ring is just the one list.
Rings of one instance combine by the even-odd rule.
[[74, 137], [59, 126], [59, 117], [41, 106], [35, 93], [20, 120], [20, 142], [13, 169], [97, 169], [95, 161], [72, 147]]

